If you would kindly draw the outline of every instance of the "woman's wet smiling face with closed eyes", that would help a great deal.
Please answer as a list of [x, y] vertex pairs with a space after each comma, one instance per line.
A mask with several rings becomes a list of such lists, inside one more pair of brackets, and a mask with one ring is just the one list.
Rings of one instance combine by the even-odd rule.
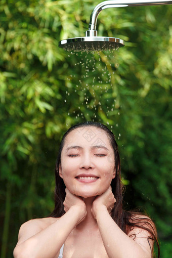
[[106, 132], [94, 126], [71, 131], [62, 149], [59, 175], [75, 195], [104, 193], [115, 177], [114, 151]]

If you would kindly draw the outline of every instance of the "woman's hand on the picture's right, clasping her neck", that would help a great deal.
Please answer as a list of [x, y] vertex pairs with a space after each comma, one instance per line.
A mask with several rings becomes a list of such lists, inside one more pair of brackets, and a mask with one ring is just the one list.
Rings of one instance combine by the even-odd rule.
[[116, 199], [112, 193], [111, 186], [106, 190], [106, 192], [102, 193], [101, 195], [97, 196], [92, 204], [92, 213], [94, 218], [97, 218], [97, 212], [107, 209], [109, 213], [111, 213], [111, 210], [114, 208], [114, 204], [116, 202]]

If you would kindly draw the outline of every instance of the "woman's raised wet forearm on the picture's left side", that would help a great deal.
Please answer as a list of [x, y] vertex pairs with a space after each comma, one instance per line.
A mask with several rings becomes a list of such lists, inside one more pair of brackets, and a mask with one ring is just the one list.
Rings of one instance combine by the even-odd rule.
[[78, 220], [78, 208], [72, 206], [60, 219], [16, 246], [15, 258], [54, 258]]

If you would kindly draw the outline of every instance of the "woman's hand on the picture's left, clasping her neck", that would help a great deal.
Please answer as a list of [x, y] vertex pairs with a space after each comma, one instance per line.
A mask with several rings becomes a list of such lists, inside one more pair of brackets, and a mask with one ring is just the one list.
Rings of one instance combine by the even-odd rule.
[[72, 194], [67, 188], [65, 189], [66, 197], [63, 202], [64, 210], [67, 212], [72, 206], [74, 206], [78, 211], [78, 225], [87, 216], [87, 209], [83, 199], [77, 195]]

